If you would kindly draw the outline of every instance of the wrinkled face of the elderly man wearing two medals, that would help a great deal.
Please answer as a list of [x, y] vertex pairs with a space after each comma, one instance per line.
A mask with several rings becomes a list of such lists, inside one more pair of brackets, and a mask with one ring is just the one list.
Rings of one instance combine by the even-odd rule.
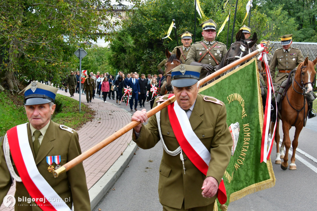
[[26, 116], [29, 119], [30, 124], [36, 129], [43, 128], [51, 119], [51, 115], [54, 113], [55, 104], [49, 107], [48, 103], [40, 105], [25, 105]]

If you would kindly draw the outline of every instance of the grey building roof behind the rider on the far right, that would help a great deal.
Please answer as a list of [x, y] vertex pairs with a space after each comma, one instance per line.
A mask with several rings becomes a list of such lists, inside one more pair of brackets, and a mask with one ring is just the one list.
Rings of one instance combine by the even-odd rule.
[[[293, 42], [291, 46], [300, 49], [304, 59], [308, 56], [310, 61], [314, 61], [317, 57], [317, 42]], [[282, 48], [281, 42], [271, 42], [270, 47], [270, 54], [274, 54], [276, 49]]]

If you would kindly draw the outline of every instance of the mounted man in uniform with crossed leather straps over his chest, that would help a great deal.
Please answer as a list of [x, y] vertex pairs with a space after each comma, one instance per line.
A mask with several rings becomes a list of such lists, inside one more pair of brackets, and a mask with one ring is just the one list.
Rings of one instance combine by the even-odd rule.
[[215, 41], [217, 24], [212, 19], [200, 25], [203, 28], [204, 40], [195, 42], [191, 46], [185, 64], [201, 66], [202, 72], [199, 78], [202, 79], [207, 73], [210, 74], [215, 70], [215, 66], [219, 65], [228, 50], [225, 44]]

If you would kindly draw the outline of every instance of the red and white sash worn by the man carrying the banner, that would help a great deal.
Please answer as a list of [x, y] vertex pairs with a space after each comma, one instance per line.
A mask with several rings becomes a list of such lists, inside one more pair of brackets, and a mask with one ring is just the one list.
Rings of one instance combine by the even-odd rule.
[[[169, 98], [172, 95], [169, 95]], [[191, 162], [200, 170], [204, 175], [207, 175], [208, 165], [210, 162], [210, 151], [197, 137], [186, 115], [186, 112], [178, 105], [174, 103], [167, 106], [168, 115], [170, 118], [171, 126], [178, 144], [185, 152]], [[227, 193], [223, 183], [223, 179], [218, 187], [217, 198], [221, 204], [226, 203]]]

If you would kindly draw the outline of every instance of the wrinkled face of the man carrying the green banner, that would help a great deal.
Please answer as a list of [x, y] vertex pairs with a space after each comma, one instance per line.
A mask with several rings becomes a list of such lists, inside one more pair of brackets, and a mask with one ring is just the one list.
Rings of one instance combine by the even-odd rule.
[[178, 105], [184, 109], [189, 109], [196, 101], [198, 94], [197, 83], [186, 87], [174, 86], [174, 94]]

